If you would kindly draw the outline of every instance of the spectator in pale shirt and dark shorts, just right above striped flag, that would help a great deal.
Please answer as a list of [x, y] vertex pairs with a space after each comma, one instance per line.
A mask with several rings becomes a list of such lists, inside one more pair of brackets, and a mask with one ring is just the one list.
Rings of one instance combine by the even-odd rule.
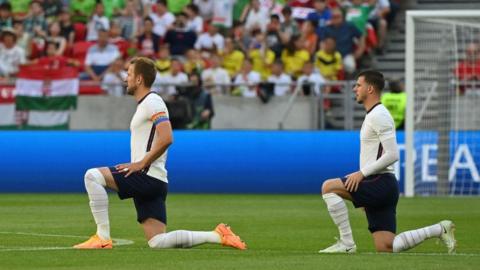
[[105, 75], [107, 69], [120, 57], [117, 46], [109, 44], [108, 32], [100, 29], [98, 31], [98, 40], [95, 45], [87, 51], [85, 59], [85, 72], [81, 79], [92, 79], [100, 82]]

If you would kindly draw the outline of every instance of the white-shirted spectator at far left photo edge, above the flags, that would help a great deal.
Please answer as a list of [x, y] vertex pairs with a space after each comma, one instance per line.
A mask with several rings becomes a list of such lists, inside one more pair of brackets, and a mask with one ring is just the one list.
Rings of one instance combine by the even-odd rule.
[[1, 32], [0, 43], [0, 77], [9, 78], [18, 73], [20, 65], [26, 63], [25, 51], [16, 45], [17, 35], [11, 28]]

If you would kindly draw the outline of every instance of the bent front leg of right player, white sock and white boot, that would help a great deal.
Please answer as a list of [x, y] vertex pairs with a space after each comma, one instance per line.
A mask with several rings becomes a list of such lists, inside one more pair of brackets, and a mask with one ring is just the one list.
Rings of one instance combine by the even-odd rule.
[[355, 252], [352, 228], [348, 218], [348, 209], [343, 199], [352, 200], [340, 178], [326, 180], [322, 185], [322, 197], [327, 204], [328, 213], [338, 227], [340, 239], [334, 245], [320, 250], [321, 253]]

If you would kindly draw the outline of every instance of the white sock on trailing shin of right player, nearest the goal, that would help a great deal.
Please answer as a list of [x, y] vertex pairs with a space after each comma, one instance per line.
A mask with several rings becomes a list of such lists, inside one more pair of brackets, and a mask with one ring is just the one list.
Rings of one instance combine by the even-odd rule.
[[440, 237], [441, 234], [442, 226], [440, 224], [403, 232], [393, 239], [393, 252], [411, 249], [426, 239]]

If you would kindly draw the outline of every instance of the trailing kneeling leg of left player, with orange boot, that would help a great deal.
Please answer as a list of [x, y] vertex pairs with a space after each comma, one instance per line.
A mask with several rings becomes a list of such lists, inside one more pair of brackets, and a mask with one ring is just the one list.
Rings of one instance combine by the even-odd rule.
[[245, 249], [245, 243], [229, 226], [219, 224], [213, 231], [176, 230], [166, 232], [165, 201], [162, 197], [152, 200], [134, 198], [138, 221], [142, 224], [151, 248], [190, 248], [212, 243]]

